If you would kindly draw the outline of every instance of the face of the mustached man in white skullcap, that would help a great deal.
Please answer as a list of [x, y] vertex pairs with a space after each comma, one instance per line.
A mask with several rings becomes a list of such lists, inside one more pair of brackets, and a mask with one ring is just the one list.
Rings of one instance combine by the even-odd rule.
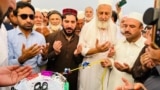
[[136, 41], [141, 36], [143, 26], [138, 20], [127, 18], [124, 22], [124, 36], [128, 41]]

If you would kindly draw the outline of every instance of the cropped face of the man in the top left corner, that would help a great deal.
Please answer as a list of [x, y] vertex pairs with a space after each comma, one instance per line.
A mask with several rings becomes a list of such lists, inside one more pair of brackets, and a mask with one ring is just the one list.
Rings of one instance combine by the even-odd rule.
[[3, 22], [7, 10], [16, 8], [16, 0], [1, 0], [0, 3], [0, 24]]

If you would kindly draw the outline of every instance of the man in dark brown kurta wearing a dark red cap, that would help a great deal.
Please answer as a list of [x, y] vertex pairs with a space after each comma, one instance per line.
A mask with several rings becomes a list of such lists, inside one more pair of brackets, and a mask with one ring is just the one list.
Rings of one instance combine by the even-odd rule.
[[[74, 69], [81, 63], [81, 46], [77, 46], [79, 37], [75, 35], [76, 16], [76, 10], [64, 9], [62, 16], [63, 30], [49, 36], [47, 40], [50, 43], [47, 70], [63, 72], [65, 68]], [[77, 76], [78, 71], [66, 75], [69, 90], [77, 90]]]

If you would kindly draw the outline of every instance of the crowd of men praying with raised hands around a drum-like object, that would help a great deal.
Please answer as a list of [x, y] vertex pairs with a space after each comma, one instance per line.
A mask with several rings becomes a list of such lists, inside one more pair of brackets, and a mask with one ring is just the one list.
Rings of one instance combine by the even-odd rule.
[[42, 70], [62, 73], [86, 62], [64, 75], [69, 90], [160, 88], [160, 49], [152, 47], [153, 26], [144, 25], [143, 14], [123, 16], [112, 0], [62, 13], [36, 9], [31, 0], [1, 1], [0, 90]]

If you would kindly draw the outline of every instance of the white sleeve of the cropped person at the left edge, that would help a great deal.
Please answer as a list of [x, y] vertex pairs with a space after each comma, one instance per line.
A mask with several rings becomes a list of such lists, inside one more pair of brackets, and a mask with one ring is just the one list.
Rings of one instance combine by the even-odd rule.
[[[0, 29], [0, 67], [8, 65], [7, 31], [2, 24]], [[10, 90], [8, 87], [0, 87], [0, 90]]]

